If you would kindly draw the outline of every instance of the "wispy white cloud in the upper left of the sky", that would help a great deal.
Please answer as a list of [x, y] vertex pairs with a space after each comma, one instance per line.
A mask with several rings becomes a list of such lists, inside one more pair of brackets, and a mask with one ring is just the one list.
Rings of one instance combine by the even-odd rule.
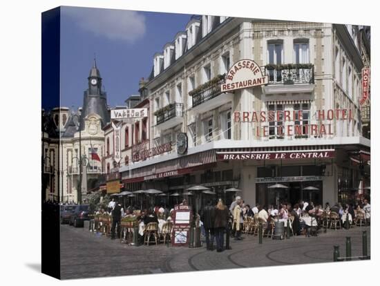
[[71, 17], [82, 30], [108, 39], [133, 43], [142, 38], [146, 31], [144, 15], [135, 11], [64, 8], [62, 14]]

